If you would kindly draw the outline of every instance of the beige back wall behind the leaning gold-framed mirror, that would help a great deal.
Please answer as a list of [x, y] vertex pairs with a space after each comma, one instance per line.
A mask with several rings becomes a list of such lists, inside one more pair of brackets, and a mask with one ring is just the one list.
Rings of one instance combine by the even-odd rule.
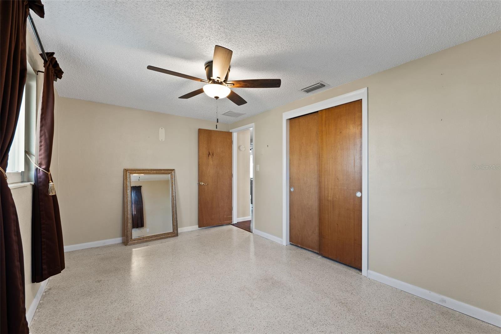
[[[158, 129], [165, 129], [165, 141]], [[122, 237], [123, 169], [175, 169], [178, 227], [198, 224], [198, 128], [212, 121], [60, 98], [65, 245]], [[228, 124], [219, 124], [227, 131]]]

